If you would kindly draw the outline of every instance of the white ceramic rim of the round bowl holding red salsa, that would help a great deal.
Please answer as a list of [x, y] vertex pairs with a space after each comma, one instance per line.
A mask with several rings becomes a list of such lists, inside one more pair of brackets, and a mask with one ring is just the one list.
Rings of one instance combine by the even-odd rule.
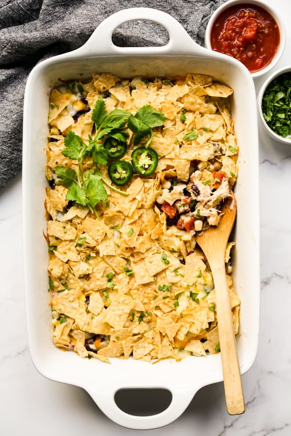
[[263, 74], [267, 73], [268, 71], [270, 71], [275, 66], [275, 64], [281, 58], [282, 53], [283, 53], [284, 48], [285, 48], [285, 44], [286, 44], [286, 31], [285, 31], [284, 22], [283, 22], [281, 16], [279, 14], [277, 14], [275, 9], [273, 9], [267, 3], [262, 2], [262, 1], [258, 1], [258, 0], [246, 0], [246, 1], [229, 0], [229, 1], [226, 1], [226, 3], [223, 3], [221, 6], [219, 6], [219, 8], [216, 9], [216, 11], [214, 11], [214, 13], [212, 14], [212, 16], [209, 19], [209, 22], [207, 24], [206, 31], [205, 31], [205, 47], [207, 47], [209, 50], [212, 50], [211, 41], [210, 41], [210, 33], [211, 33], [211, 29], [212, 29], [212, 26], [213, 26], [216, 18], [223, 11], [225, 11], [227, 8], [229, 8], [230, 6], [236, 5], [236, 4], [254, 4], [254, 5], [260, 6], [262, 9], [265, 9], [267, 12], [269, 12], [269, 14], [271, 14], [275, 18], [275, 21], [277, 22], [277, 25], [279, 27], [280, 45], [279, 45], [278, 51], [277, 51], [274, 59], [265, 68], [262, 68], [261, 70], [256, 71], [255, 73], [251, 73], [253, 78], [258, 78], [258, 77], [261, 77]]

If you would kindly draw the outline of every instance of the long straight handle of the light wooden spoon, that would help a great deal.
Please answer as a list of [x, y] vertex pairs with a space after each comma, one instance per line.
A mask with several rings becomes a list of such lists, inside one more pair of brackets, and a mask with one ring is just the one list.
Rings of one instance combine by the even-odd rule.
[[232, 313], [226, 283], [224, 259], [210, 265], [216, 292], [216, 313], [218, 321], [221, 361], [226, 396], [226, 408], [230, 415], [245, 411], [242, 380], [233, 331]]

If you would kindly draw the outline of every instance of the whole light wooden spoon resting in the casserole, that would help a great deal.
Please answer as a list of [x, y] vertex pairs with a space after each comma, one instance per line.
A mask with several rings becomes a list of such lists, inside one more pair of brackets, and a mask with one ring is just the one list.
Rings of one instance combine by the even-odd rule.
[[218, 226], [210, 226], [209, 229], [195, 235], [195, 237], [197, 244], [207, 257], [215, 286], [226, 408], [230, 415], [239, 415], [244, 412], [245, 405], [225, 269], [226, 244], [237, 212], [235, 196], [232, 191], [231, 198], [226, 199], [223, 203], [222, 212], [224, 215]]

